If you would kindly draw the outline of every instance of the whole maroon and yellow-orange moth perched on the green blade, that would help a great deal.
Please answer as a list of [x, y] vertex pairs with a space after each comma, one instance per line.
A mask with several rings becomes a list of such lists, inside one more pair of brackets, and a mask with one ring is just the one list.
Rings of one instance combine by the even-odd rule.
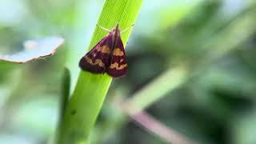
[[79, 62], [80, 68], [94, 74], [106, 73], [113, 78], [126, 75], [126, 52], [120, 34], [131, 26], [122, 31], [119, 30], [118, 23], [113, 30], [108, 30], [102, 26], [99, 27], [108, 31], [109, 34], [81, 58]]

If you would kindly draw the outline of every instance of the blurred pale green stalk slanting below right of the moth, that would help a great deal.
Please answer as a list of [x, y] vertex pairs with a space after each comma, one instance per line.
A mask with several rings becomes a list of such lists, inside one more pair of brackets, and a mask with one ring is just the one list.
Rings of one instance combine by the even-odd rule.
[[187, 70], [186, 66], [177, 66], [166, 70], [165, 73], [155, 78], [153, 82], [135, 93], [126, 100], [126, 105], [132, 107], [130, 114], [138, 114], [141, 110], [146, 109], [160, 98], [163, 98], [170, 91], [178, 88], [186, 82]]

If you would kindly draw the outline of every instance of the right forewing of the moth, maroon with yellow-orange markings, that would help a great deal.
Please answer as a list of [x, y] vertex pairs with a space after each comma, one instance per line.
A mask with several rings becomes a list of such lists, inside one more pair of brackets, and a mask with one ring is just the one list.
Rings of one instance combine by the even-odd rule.
[[117, 45], [114, 47], [110, 57], [110, 66], [106, 68], [106, 73], [111, 77], [122, 77], [127, 72], [126, 52], [120, 36], [117, 38]]

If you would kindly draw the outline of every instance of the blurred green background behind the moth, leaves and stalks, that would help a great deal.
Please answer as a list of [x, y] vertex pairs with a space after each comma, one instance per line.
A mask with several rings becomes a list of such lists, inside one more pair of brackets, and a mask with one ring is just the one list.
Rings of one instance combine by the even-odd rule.
[[[71, 71], [73, 90], [103, 2], [0, 0], [0, 54], [22, 50], [26, 39], [58, 34], [66, 40], [53, 57], [0, 63], [0, 143], [53, 141], [63, 67]], [[146, 111], [194, 142], [256, 143], [255, 46], [254, 0], [145, 1], [126, 46], [129, 73], [112, 82], [91, 142], [166, 143], [120, 114], [114, 102], [182, 66], [182, 84], [155, 86], [168, 93]]]

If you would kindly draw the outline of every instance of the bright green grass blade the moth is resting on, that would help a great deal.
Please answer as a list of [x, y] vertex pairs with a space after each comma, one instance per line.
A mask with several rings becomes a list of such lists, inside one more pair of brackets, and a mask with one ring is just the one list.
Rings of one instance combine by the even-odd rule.
[[[106, 0], [98, 19], [98, 25], [112, 29], [118, 22], [121, 30], [131, 26], [138, 17], [142, 1]], [[130, 33], [131, 29], [122, 34], [124, 46], [126, 46]], [[96, 26], [89, 48], [96, 45], [106, 34], [105, 30]], [[111, 80], [112, 78], [106, 74], [80, 72], [74, 94], [66, 106], [62, 119], [59, 143], [87, 143], [90, 130], [94, 127]]]

